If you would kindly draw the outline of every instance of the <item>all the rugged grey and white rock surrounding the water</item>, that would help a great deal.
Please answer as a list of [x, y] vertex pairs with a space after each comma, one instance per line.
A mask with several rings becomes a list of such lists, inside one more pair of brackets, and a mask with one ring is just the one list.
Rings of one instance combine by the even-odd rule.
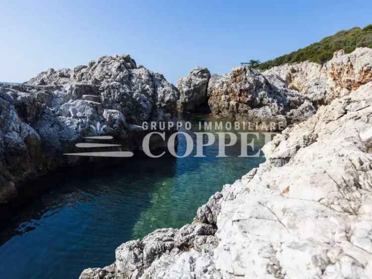
[[191, 224], [128, 241], [115, 263], [87, 269], [80, 279], [369, 278], [369, 48], [338, 51], [324, 65], [264, 72], [237, 67], [216, 75], [197, 67], [177, 87], [129, 55], [50, 69], [24, 84], [0, 83], [0, 219], [37, 193], [30, 188], [35, 179], [102, 163], [63, 156], [77, 142], [112, 136], [121, 145], [115, 150], [137, 151], [142, 122], [184, 113], [286, 129], [264, 146], [266, 162], [215, 193]]

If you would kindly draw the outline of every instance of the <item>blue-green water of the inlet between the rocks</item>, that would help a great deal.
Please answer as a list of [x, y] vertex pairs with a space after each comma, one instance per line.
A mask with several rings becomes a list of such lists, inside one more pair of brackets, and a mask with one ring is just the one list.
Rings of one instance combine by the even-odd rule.
[[[201, 120], [214, 119], [193, 117], [194, 130]], [[255, 151], [262, 144], [260, 137]], [[181, 136], [177, 152], [185, 150]], [[227, 158], [217, 153], [216, 142], [204, 148], [204, 158], [128, 158], [94, 175], [71, 173], [51, 182], [0, 232], [0, 278], [77, 279], [85, 268], [109, 265], [121, 243], [191, 222], [213, 193], [264, 161], [239, 158], [239, 141], [227, 147]]]

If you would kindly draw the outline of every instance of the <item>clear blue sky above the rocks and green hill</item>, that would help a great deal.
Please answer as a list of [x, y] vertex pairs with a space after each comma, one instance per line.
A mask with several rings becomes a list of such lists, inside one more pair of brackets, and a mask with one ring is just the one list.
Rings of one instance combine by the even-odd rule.
[[1, 0], [0, 81], [128, 53], [176, 83], [196, 65], [224, 73], [371, 23], [371, 0]]

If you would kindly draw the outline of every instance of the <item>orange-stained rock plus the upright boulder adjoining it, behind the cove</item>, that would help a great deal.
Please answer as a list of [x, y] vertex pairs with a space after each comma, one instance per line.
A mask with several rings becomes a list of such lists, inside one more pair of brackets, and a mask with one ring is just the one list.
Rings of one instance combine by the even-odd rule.
[[310, 98], [288, 88], [277, 75], [265, 77], [249, 67], [212, 76], [206, 68], [196, 67], [179, 78], [177, 87], [179, 112], [211, 113], [251, 122], [262, 130], [283, 130], [316, 111]]

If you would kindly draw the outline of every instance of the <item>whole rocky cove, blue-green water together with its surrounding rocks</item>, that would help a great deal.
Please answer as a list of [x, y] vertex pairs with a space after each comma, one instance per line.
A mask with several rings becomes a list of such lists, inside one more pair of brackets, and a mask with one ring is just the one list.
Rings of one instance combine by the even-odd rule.
[[[12, 221], [0, 236], [0, 272], [6, 279], [80, 271], [79, 279], [370, 279], [371, 92], [370, 48], [264, 72], [242, 66], [211, 75], [195, 67], [177, 87], [129, 55], [0, 84], [0, 202], [10, 209], [28, 202], [21, 214], [1, 212]], [[159, 137], [147, 142], [141, 124], [180, 116], [179, 133], [154, 131]], [[266, 129], [262, 137], [227, 125], [210, 131], [211, 120], [285, 129], [270, 141]], [[184, 129], [186, 122], [196, 127]], [[212, 137], [197, 137], [205, 132]], [[226, 132], [236, 145], [220, 137]], [[249, 155], [261, 156], [240, 156], [251, 140], [235, 133], [257, 138]], [[72, 153], [82, 146], [135, 156]], [[165, 155], [165, 146], [172, 156], [148, 158], [147, 151]], [[200, 146], [206, 157], [194, 156]]]

